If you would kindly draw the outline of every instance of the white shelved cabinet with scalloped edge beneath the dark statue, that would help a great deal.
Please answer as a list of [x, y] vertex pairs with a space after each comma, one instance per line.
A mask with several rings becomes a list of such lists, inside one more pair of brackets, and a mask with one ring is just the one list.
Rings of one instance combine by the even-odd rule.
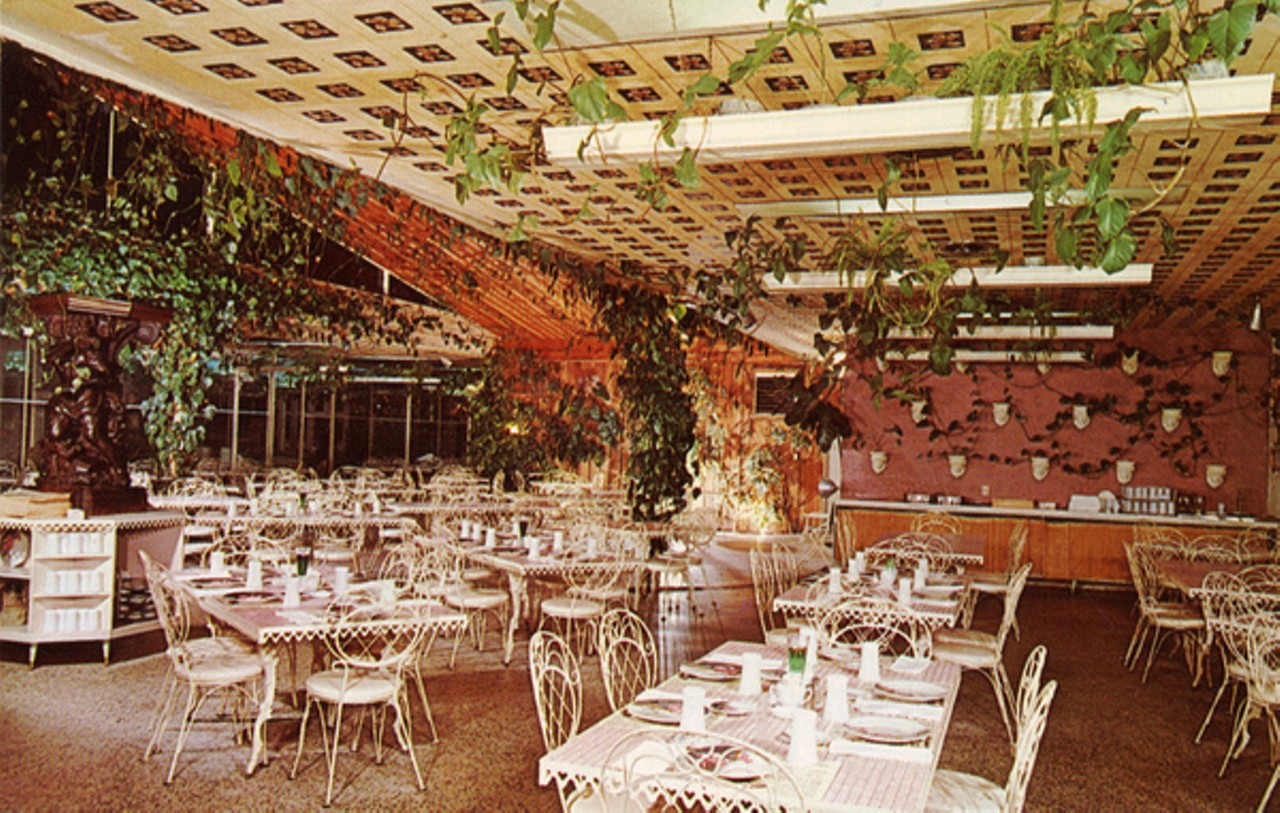
[[[0, 517], [10, 545], [24, 545], [20, 565], [0, 567], [0, 640], [27, 644], [35, 666], [41, 644], [100, 641], [109, 661], [111, 640], [157, 629], [122, 613], [125, 585], [137, 585], [146, 548], [173, 561], [183, 517], [169, 512], [91, 520]], [[133, 589], [137, 589], [136, 586]], [[119, 620], [119, 621], [118, 621]]]

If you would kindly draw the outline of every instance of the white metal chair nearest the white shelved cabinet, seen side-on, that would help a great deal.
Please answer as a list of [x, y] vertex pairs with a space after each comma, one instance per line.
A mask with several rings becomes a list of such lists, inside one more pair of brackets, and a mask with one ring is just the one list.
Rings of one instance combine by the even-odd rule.
[[151, 740], [142, 754], [143, 761], [150, 759], [159, 746], [178, 699], [178, 691], [182, 686], [187, 688], [178, 740], [169, 762], [169, 773], [165, 776], [168, 785], [173, 782], [178, 769], [178, 757], [187, 744], [187, 736], [205, 700], [215, 694], [225, 696], [224, 708], [230, 709], [239, 736], [247, 725], [246, 712], [251, 717], [257, 709], [266, 670], [273, 667], [259, 653], [234, 639], [191, 639], [191, 598], [168, 570], [152, 561], [146, 552], [138, 554], [146, 567], [147, 588], [164, 630], [168, 644], [165, 657], [169, 659], [161, 688], [161, 703], [151, 730]]

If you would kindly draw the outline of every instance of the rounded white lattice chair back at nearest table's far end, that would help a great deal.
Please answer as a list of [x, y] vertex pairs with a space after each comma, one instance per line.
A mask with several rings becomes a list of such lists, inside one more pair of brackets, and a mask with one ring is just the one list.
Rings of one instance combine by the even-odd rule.
[[828, 609], [818, 621], [818, 647], [858, 649], [876, 641], [882, 653], [927, 658], [933, 649], [928, 622], [893, 599], [858, 595]]

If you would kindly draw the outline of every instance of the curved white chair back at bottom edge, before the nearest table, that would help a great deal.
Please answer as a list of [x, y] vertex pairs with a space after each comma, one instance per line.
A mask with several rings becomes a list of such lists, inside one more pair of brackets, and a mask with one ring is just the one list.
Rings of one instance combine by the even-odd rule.
[[800, 784], [781, 761], [722, 734], [690, 739], [669, 728], [634, 731], [609, 749], [600, 776], [609, 813], [808, 809]]

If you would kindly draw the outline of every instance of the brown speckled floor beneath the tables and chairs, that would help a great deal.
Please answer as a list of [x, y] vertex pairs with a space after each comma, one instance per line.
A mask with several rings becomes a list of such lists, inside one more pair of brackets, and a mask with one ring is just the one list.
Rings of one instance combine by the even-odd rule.
[[[732, 558], [717, 571], [741, 583]], [[652, 608], [663, 664], [696, 657], [727, 638], [755, 632], [750, 590], [700, 590], [690, 622], [684, 593]], [[1120, 657], [1132, 629], [1132, 595], [1032, 588], [1020, 613], [1023, 640], [1010, 640], [1011, 673], [1036, 643], [1050, 648], [1046, 679], [1060, 682], [1039, 763], [1032, 777], [1033, 810], [1252, 810], [1270, 766], [1266, 732], [1254, 725], [1245, 755], [1219, 780], [1229, 721], [1219, 713], [1204, 741], [1192, 743], [1212, 699], [1192, 690], [1180, 659], [1165, 657], [1147, 685], [1124, 670]], [[979, 609], [977, 626], [995, 625], [997, 604]], [[173, 786], [163, 784], [172, 739], [143, 763], [147, 722], [164, 670], [159, 641], [116, 647], [118, 661], [102, 667], [96, 647], [49, 648], [35, 671], [23, 648], [0, 648], [0, 810], [311, 810], [324, 796], [319, 736], [308, 743], [297, 780], [288, 778], [297, 722], [270, 727], [275, 755], [252, 777], [243, 775], [247, 749], [230, 743], [220, 725], [197, 727]], [[428, 691], [440, 741], [422, 741], [417, 754], [426, 793], [412, 784], [407, 757], [393, 752], [381, 766], [370, 749], [343, 752], [334, 809], [339, 810], [556, 810], [553, 791], [536, 784], [541, 740], [534, 716], [524, 648], [503, 668], [490, 645], [466, 653], [449, 672], [443, 653]], [[604, 714], [593, 662], [586, 664], [584, 725]], [[315, 728], [312, 735], [317, 732]], [[942, 762], [1002, 782], [1010, 757], [991, 686], [968, 676]], [[1272, 805], [1280, 810], [1280, 799]]]

